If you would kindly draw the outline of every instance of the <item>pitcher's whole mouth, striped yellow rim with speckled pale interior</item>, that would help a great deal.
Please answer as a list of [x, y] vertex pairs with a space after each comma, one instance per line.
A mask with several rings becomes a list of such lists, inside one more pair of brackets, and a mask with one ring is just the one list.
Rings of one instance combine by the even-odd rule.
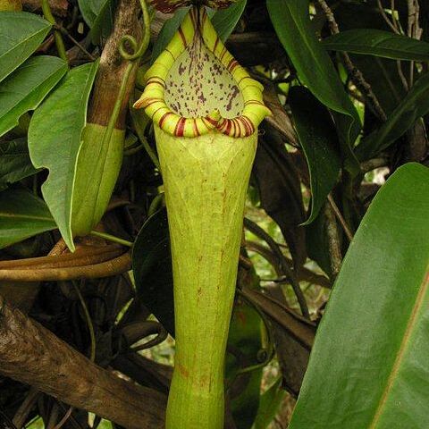
[[228, 52], [204, 7], [190, 9], [146, 79], [134, 107], [144, 108], [174, 137], [220, 132], [244, 138], [271, 114], [263, 103], [264, 87]]

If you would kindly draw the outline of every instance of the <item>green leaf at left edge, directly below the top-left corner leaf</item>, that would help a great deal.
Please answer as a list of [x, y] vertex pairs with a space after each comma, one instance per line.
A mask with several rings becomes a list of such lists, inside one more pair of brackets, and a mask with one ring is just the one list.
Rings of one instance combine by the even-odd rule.
[[0, 136], [12, 130], [21, 117], [34, 110], [67, 71], [56, 56], [35, 56], [0, 84]]

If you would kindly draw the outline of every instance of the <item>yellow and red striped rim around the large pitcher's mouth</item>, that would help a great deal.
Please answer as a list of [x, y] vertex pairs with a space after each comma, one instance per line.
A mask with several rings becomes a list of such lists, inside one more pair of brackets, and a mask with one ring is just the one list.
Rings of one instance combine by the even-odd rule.
[[[198, 38], [199, 40], [196, 41]], [[235, 112], [236, 115], [232, 114], [230, 118], [224, 117], [225, 114], [222, 115], [217, 108], [199, 115], [192, 110], [190, 114], [182, 112], [179, 114], [179, 108], [174, 109], [167, 105], [166, 96], [169, 88], [166, 88], [166, 81], [169, 72], [176, 60], [195, 43], [204, 44], [218, 63], [231, 73], [234, 88], [236, 92], [240, 91], [242, 106], [239, 109], [239, 103], [236, 100], [231, 106], [233, 98], [231, 97], [227, 108], [229, 107], [231, 113]], [[210, 78], [215, 79], [212, 76]], [[146, 79], [146, 88], [134, 106], [144, 108], [159, 128], [174, 137], [194, 138], [207, 133], [221, 132], [233, 138], [244, 138], [256, 132], [259, 123], [267, 114], [271, 114], [263, 103], [263, 86], [252, 79], [228, 52], [208, 19], [205, 7], [192, 7], [189, 10], [169, 45], [147, 71]], [[172, 84], [174, 85], [174, 82]], [[210, 96], [218, 97], [217, 94], [213, 94], [213, 91]], [[206, 97], [210, 96], [206, 95]], [[206, 99], [203, 94], [199, 97]], [[212, 104], [216, 105], [216, 103], [220, 102], [215, 99]], [[186, 100], [177, 100], [177, 105], [183, 104], [186, 105]]]

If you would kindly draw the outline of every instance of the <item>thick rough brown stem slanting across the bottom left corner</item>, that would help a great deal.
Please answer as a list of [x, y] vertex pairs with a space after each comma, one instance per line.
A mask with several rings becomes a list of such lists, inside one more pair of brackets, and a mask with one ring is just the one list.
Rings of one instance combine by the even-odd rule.
[[0, 373], [127, 429], [164, 427], [164, 394], [97, 366], [2, 297]]

